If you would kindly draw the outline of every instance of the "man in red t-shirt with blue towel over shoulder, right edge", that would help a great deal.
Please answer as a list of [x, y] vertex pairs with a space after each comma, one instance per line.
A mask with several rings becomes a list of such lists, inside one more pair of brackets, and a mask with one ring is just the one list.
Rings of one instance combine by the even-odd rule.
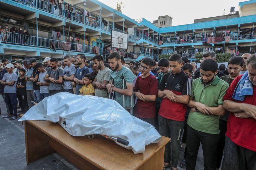
[[256, 169], [256, 54], [247, 60], [246, 67], [247, 72], [231, 83], [223, 97], [223, 107], [230, 114], [222, 170]]

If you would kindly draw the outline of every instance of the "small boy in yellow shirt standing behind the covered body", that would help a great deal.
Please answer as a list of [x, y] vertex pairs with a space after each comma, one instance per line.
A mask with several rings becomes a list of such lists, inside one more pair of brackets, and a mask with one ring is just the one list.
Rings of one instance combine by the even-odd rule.
[[94, 86], [92, 85], [92, 76], [90, 73], [85, 74], [84, 77], [84, 85], [82, 86], [81, 89], [79, 89], [80, 94], [82, 96], [86, 95], [95, 95], [95, 89]]

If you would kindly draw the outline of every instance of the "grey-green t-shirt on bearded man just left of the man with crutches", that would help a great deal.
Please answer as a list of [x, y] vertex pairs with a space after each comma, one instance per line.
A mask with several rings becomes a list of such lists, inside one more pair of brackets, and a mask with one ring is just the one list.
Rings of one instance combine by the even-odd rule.
[[[110, 69], [105, 68], [103, 70], [99, 70], [96, 76], [96, 80], [100, 83], [103, 81], [109, 81]], [[95, 96], [108, 98], [108, 90], [107, 89], [95, 89]]]

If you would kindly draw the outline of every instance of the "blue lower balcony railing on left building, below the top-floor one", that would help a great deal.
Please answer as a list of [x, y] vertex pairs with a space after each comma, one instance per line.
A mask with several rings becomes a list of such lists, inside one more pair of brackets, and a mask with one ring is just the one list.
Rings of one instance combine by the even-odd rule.
[[[57, 50], [62, 50], [61, 45], [63, 43], [70, 44], [70, 51], [76, 52], [85, 52], [85, 53], [93, 53], [93, 46], [88, 46], [85, 44], [82, 45], [82, 51], [77, 51], [77, 45], [80, 43], [73, 42], [64, 42], [61, 40], [52, 40], [48, 38], [42, 38], [37, 36], [26, 36], [17, 33], [5, 33], [4, 36], [1, 36], [1, 43], [15, 44], [15, 45], [23, 45], [23, 46], [32, 46], [32, 47], [40, 47], [40, 48], [50, 48], [51, 42], [54, 43]], [[100, 49], [100, 54], [102, 54], [103, 49]]]

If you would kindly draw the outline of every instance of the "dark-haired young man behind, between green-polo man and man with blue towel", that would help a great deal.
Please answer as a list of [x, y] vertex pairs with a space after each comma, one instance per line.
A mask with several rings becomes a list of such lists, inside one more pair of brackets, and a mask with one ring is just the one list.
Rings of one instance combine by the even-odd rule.
[[[236, 77], [239, 76], [240, 71], [244, 68], [244, 60], [242, 57], [232, 57], [228, 61], [228, 73], [220, 79], [226, 81], [229, 85], [234, 81]], [[222, 161], [223, 149], [225, 146], [225, 133], [228, 124], [229, 111], [225, 111], [223, 116], [219, 119], [219, 143], [217, 146], [217, 169], [220, 168]]]

